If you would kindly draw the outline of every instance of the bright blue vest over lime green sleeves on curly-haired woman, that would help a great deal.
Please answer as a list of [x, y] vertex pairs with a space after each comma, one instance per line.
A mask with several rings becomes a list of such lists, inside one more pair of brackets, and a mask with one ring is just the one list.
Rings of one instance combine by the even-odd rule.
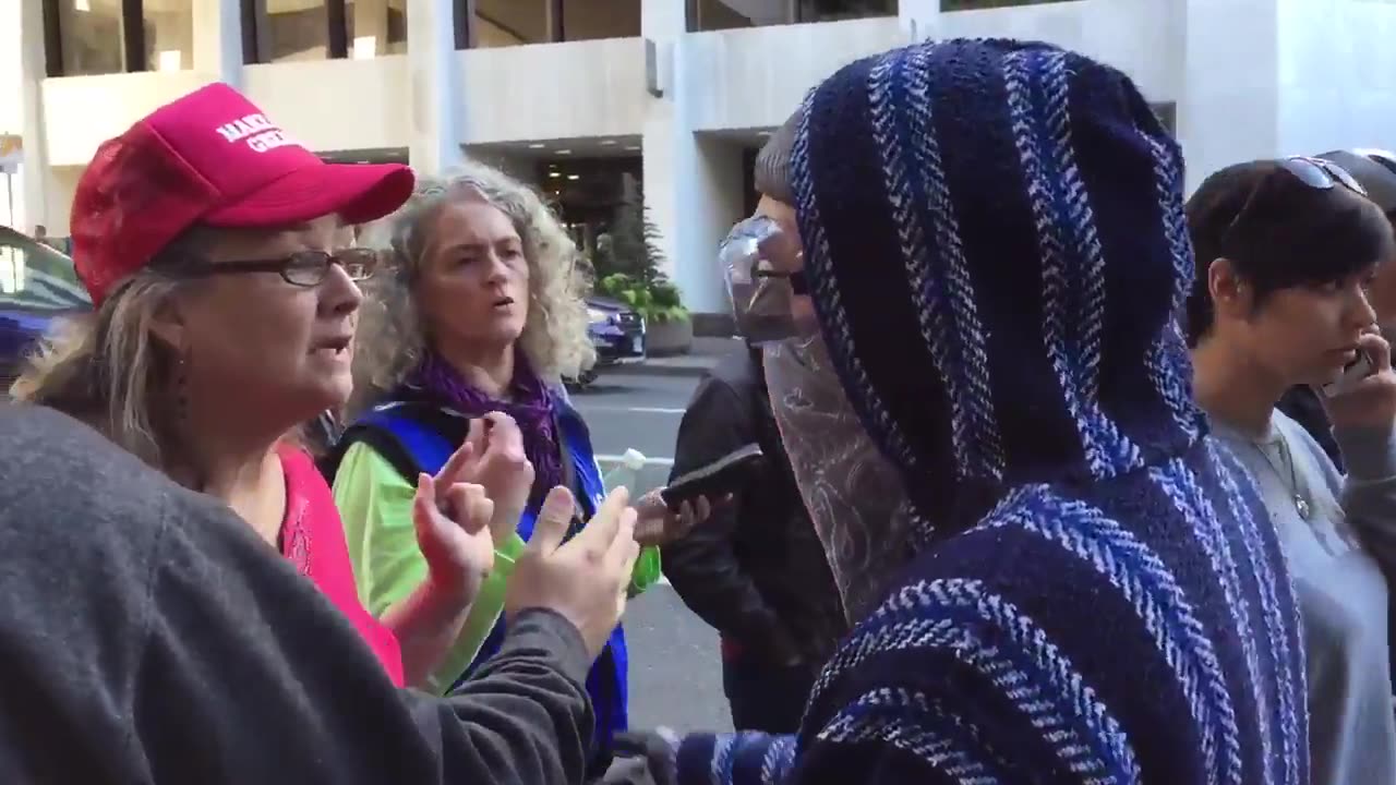
[[[596, 465], [596, 455], [592, 450], [592, 436], [582, 420], [581, 413], [568, 405], [560, 395], [551, 397], [553, 411], [557, 413], [560, 440], [563, 450], [572, 462], [575, 476], [572, 493], [582, 507], [584, 520], [591, 520], [606, 497], [606, 487], [602, 485], [600, 468]], [[420, 471], [436, 474], [445, 465], [447, 458], [455, 451], [458, 444], [447, 439], [440, 429], [433, 427], [422, 416], [413, 416], [413, 411], [420, 404], [403, 404], [401, 401], [381, 404], [360, 418], [350, 426], [341, 443], [341, 454], [353, 441], [353, 430], [374, 429], [391, 434], [395, 441], [412, 457]], [[419, 409], [416, 409], [419, 411]], [[438, 409], [444, 416], [462, 416], [450, 409]], [[415, 482], [415, 476], [413, 482]], [[537, 506], [530, 504], [519, 518], [518, 534], [528, 541], [533, 535], [533, 522], [537, 520]], [[571, 534], [568, 535], [571, 536]], [[504, 643], [504, 617], [494, 623], [489, 637], [480, 647], [480, 652], [456, 679], [451, 691], [455, 691], [462, 682], [486, 659], [500, 650]], [[625, 633], [620, 624], [610, 636], [606, 648], [596, 663], [592, 665], [586, 676], [586, 691], [592, 698], [592, 711], [596, 712], [596, 733], [593, 742], [597, 750], [609, 751], [613, 736], [627, 728], [627, 665]]]

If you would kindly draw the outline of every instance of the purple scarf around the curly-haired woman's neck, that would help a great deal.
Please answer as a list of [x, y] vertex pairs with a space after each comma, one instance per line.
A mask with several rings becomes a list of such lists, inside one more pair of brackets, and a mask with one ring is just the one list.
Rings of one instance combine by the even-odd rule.
[[563, 464], [557, 447], [553, 419], [553, 398], [547, 386], [533, 373], [524, 352], [514, 355], [514, 381], [510, 401], [501, 401], [476, 390], [436, 352], [429, 352], [409, 384], [423, 388], [433, 398], [469, 418], [490, 412], [504, 412], [514, 418], [524, 434], [524, 453], [533, 464], [533, 490], [529, 504], [542, 501], [544, 493], [563, 483]]

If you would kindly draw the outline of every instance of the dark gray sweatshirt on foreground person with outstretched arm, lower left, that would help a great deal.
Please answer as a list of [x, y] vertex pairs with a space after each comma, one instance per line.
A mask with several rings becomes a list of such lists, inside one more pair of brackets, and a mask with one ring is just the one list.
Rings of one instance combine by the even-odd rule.
[[226, 506], [0, 402], [0, 782], [568, 785], [591, 658], [550, 610], [452, 697], [392, 686]]

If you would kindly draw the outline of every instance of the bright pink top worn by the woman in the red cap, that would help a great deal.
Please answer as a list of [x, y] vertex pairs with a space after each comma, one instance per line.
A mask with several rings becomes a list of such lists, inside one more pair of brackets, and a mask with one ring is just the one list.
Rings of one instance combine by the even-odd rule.
[[334, 496], [310, 455], [295, 447], [278, 450], [282, 472], [286, 475], [286, 520], [281, 527], [282, 556], [300, 570], [335, 603], [369, 648], [378, 655], [392, 683], [402, 686], [402, 650], [392, 630], [384, 627], [359, 602], [353, 564], [345, 543], [345, 527], [339, 520]]

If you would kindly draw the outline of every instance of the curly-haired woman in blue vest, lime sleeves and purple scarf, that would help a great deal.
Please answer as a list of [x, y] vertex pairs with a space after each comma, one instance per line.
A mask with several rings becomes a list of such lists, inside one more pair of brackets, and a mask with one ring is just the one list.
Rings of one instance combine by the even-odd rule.
[[[430, 689], [444, 693], [503, 638], [504, 587], [547, 489], [574, 492], [574, 531], [604, 494], [586, 425], [560, 384], [595, 359], [586, 279], [575, 244], [537, 194], [479, 163], [419, 183], [402, 210], [370, 230], [371, 243], [373, 235], [388, 246], [389, 260], [369, 292], [356, 366], [359, 408], [374, 405], [350, 423], [327, 464], [369, 609], [381, 613], [426, 574], [409, 514], [422, 472], [436, 472], [462, 443], [484, 448], [501, 418], [518, 423], [536, 472], [528, 497], [512, 503], [519, 514], [491, 522], [494, 571], [430, 679]], [[637, 539], [649, 548], [632, 592], [659, 577], [652, 546], [706, 517], [706, 501], [698, 507], [673, 514], [656, 493], [635, 503]], [[625, 728], [620, 627], [588, 690], [596, 710], [592, 772], [599, 775], [613, 733]]]

